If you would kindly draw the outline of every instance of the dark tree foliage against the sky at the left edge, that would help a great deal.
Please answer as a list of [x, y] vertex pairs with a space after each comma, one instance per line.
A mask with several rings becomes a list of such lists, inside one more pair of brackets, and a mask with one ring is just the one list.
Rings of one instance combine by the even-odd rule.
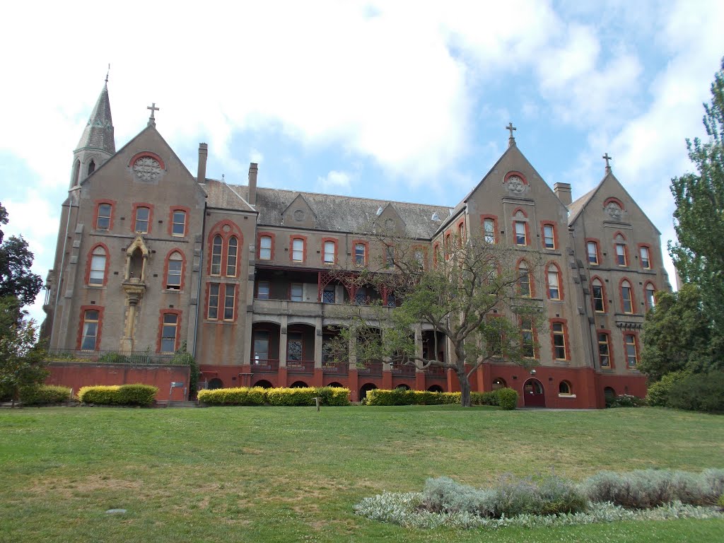
[[[7, 210], [0, 204], [0, 225], [7, 221]], [[33, 253], [22, 236], [3, 237], [0, 230], [0, 297], [17, 296], [24, 306], [33, 303], [43, 288], [43, 279], [30, 271]]]

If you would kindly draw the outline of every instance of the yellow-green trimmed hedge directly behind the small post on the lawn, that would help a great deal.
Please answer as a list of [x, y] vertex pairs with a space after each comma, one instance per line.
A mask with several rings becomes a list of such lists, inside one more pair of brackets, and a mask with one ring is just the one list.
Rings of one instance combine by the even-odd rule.
[[350, 405], [350, 390], [337, 387], [269, 388], [238, 387], [199, 390], [198, 401], [206, 405]]

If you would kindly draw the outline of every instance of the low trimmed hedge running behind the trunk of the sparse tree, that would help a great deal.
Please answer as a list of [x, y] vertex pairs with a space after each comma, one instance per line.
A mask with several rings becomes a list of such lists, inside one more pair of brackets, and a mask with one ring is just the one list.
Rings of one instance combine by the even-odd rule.
[[[503, 392], [507, 391], [507, 392]], [[512, 407], [511, 405], [512, 398]], [[502, 388], [492, 392], [471, 392], [473, 405], [501, 405], [505, 399], [504, 409], [515, 409], [518, 404], [518, 392], [510, 388]], [[363, 401], [365, 405], [443, 405], [460, 403], [460, 392], [430, 392], [429, 390], [382, 390], [367, 391]]]

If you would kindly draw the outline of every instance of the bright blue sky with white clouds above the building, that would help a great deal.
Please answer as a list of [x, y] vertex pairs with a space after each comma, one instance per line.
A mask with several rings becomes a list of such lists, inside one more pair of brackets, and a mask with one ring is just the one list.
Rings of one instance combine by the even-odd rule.
[[[23, 5], [21, 5], [23, 4]], [[720, 0], [13, 2], [0, 201], [52, 265], [75, 148], [111, 64], [116, 147], [157, 127], [209, 177], [453, 206], [507, 146], [573, 198], [613, 169], [674, 237], [670, 178], [724, 55]], [[43, 294], [31, 308], [41, 320]]]

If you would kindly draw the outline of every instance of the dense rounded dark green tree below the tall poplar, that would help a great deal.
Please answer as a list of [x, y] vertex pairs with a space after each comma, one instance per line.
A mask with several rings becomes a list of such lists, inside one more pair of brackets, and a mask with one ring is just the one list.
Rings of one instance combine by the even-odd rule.
[[710, 371], [717, 367], [718, 342], [704, 314], [702, 290], [683, 285], [678, 292], [657, 292], [642, 334], [639, 369], [658, 381], [671, 371]]

